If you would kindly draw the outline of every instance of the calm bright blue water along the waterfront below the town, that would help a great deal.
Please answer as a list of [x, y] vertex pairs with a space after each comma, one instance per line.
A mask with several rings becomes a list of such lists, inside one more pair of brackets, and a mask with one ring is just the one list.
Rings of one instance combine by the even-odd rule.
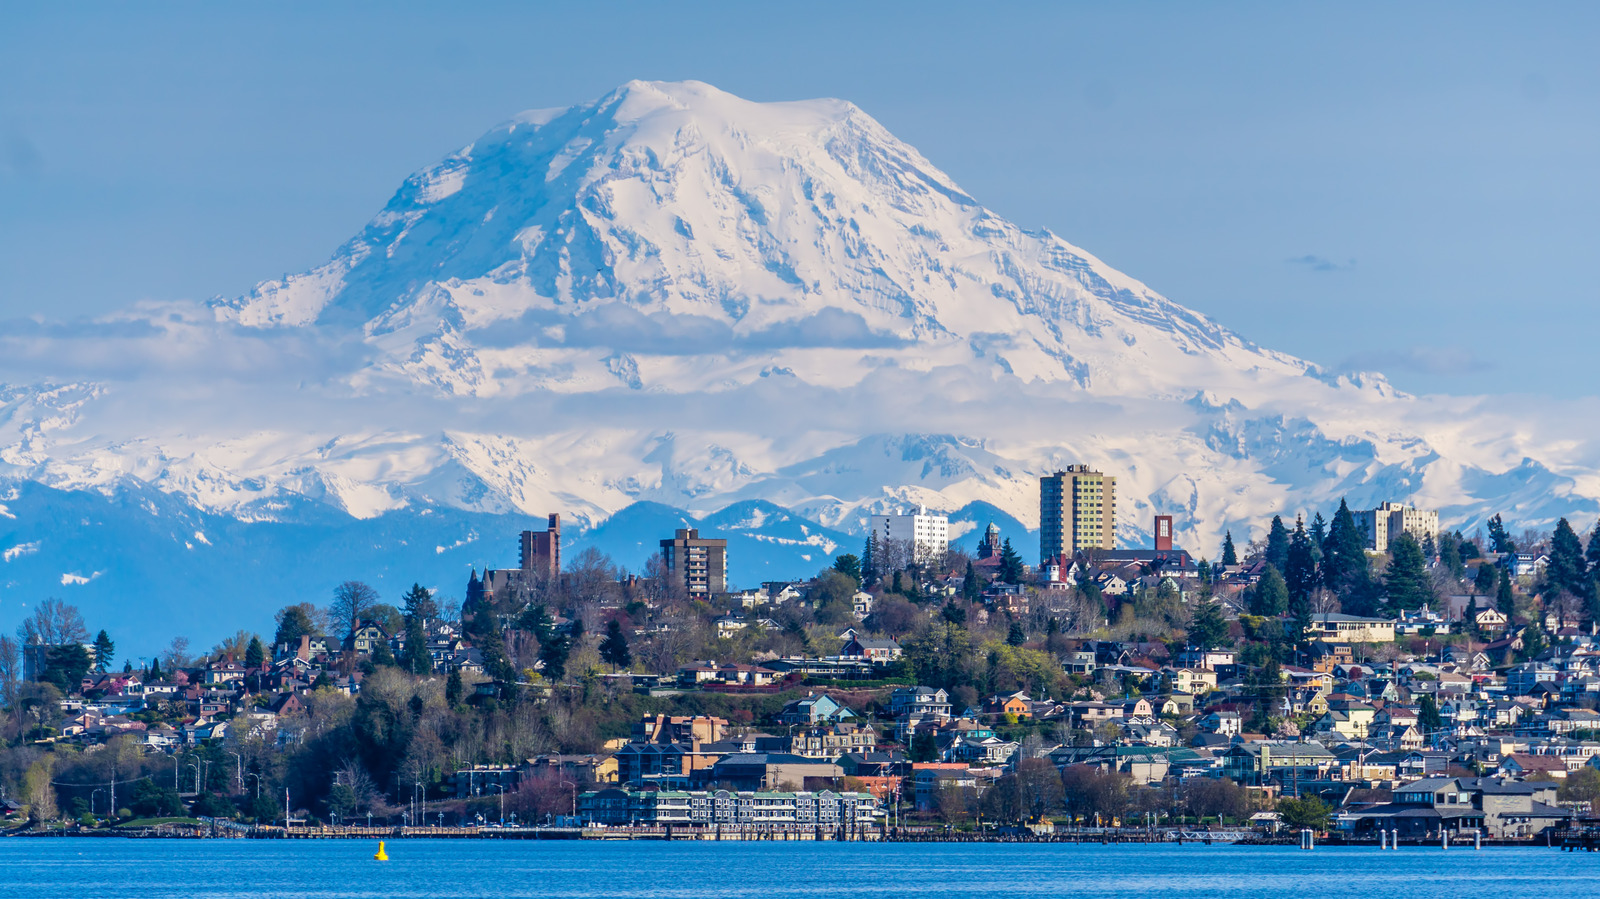
[[0, 840], [0, 897], [1600, 896], [1600, 853], [861, 843]]

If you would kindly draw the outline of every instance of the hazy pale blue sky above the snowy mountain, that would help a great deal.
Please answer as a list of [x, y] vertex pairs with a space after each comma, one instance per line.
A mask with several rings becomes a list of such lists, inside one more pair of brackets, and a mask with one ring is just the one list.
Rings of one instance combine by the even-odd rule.
[[0, 326], [237, 296], [517, 110], [699, 78], [1325, 366], [1600, 392], [1600, 6], [323, 6], [0, 8]]

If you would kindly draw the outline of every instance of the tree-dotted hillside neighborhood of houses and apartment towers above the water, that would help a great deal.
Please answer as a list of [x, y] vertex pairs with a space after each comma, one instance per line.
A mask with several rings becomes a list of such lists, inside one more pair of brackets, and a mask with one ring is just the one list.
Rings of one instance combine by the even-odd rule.
[[[1403, 504], [1200, 557], [1115, 477], [994, 525], [867, 521], [814, 577], [734, 585], [662, 534], [630, 574], [560, 515], [462, 600], [341, 584], [270, 635], [118, 656], [37, 603], [0, 638], [11, 827], [1314, 829], [1549, 840], [1597, 822], [1600, 537]], [[510, 541], [507, 541], [509, 544]], [[1032, 547], [1029, 547], [1032, 549]], [[507, 553], [509, 555], [509, 553]], [[218, 598], [211, 598], [216, 601]], [[174, 627], [178, 622], [174, 622]]]

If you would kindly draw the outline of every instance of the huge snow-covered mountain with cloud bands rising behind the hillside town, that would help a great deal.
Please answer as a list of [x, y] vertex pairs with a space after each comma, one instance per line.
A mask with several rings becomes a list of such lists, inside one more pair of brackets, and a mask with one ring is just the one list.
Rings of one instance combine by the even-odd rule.
[[[1170, 512], [1200, 555], [1341, 496], [1467, 528], [1600, 510], [1584, 416], [1330, 376], [1002, 219], [848, 102], [694, 82], [517, 115], [312, 272], [24, 358], [0, 475], [243, 523], [738, 507], [754, 536], [784, 518], [800, 566], [894, 505], [1035, 526], [1072, 462], [1118, 475], [1130, 544]], [[475, 545], [512, 561], [509, 534]], [[35, 589], [11, 561], [0, 601]]]

